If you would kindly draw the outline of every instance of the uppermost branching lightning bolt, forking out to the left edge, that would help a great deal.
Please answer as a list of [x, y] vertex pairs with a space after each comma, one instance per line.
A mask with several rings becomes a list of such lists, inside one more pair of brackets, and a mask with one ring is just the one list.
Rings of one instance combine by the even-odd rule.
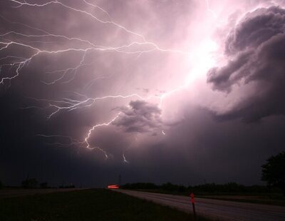
[[[95, 43], [92, 43], [86, 39], [81, 39], [81, 38], [76, 38], [76, 37], [68, 37], [68, 36], [63, 36], [63, 35], [58, 35], [58, 34], [53, 34], [50, 33], [46, 30], [43, 29], [37, 29], [33, 26], [28, 26], [26, 24], [22, 24], [26, 27], [28, 27], [29, 29], [33, 29], [36, 31], [41, 31], [43, 34], [23, 34], [23, 33], [19, 33], [17, 31], [9, 31], [7, 33], [4, 34], [0, 34], [1, 38], [4, 38], [6, 36], [10, 36], [10, 35], [14, 35], [14, 36], [22, 36], [25, 38], [45, 38], [45, 37], [52, 37], [52, 38], [63, 38], [65, 40], [68, 41], [78, 41], [81, 43], [86, 43], [87, 46], [85, 46], [84, 48], [63, 48], [62, 50], [58, 50], [58, 51], [48, 51], [48, 50], [41, 50], [40, 48], [36, 48], [35, 46], [31, 46], [28, 43], [21, 43], [19, 41], [9, 41], [9, 42], [5, 42], [2, 41], [0, 42], [0, 45], [3, 45], [0, 47], [0, 51], [4, 50], [4, 49], [8, 49], [9, 46], [21, 46], [24, 48], [30, 48], [32, 51], [35, 51], [35, 53], [33, 53], [30, 57], [28, 58], [21, 58], [19, 61], [14, 61], [11, 63], [4, 63], [0, 66], [0, 68], [2, 68], [3, 66], [10, 66], [11, 68], [16, 68], [15, 71], [15, 75], [11, 76], [11, 77], [3, 77], [0, 78], [0, 84], [4, 83], [4, 81], [11, 81], [12, 79], [16, 78], [19, 76], [19, 72], [21, 71], [22, 68], [24, 68], [26, 65], [28, 65], [28, 63], [30, 63], [32, 61], [33, 58], [35, 58], [36, 56], [39, 56], [42, 53], [48, 53], [48, 54], [55, 54], [55, 53], [66, 53], [66, 52], [78, 52], [78, 53], [83, 53], [83, 58], [81, 59], [81, 61], [78, 63], [78, 65], [74, 68], [66, 68], [65, 70], [56, 70], [56, 71], [51, 71], [48, 73], [62, 73], [62, 75], [59, 78], [56, 78], [54, 81], [51, 82], [44, 82], [46, 84], [53, 84], [53, 83], [57, 83], [58, 81], [61, 81], [65, 76], [66, 73], [68, 73], [68, 71], [73, 71], [73, 78], [69, 79], [68, 81], [63, 81], [63, 83], [69, 83], [71, 81], [73, 81], [73, 79], [76, 76], [76, 73], [78, 71], [78, 68], [81, 68], [82, 66], [86, 66], [86, 64], [83, 64], [86, 58], [86, 53], [88, 51], [115, 51], [118, 53], [127, 53], [127, 54], [142, 54], [142, 53], [150, 53], [152, 51], [161, 51], [161, 52], [171, 52], [171, 53], [184, 53], [184, 54], [189, 54], [185, 51], [180, 51], [180, 50], [172, 50], [172, 49], [165, 49], [165, 48], [160, 48], [159, 46], [157, 46], [157, 44], [150, 42], [150, 41], [146, 41], [145, 40], [145, 36], [142, 36], [141, 34], [135, 33], [134, 31], [130, 31], [129, 29], [125, 28], [125, 26], [122, 26], [118, 23], [116, 23], [115, 21], [112, 20], [108, 20], [108, 21], [103, 21], [102, 19], [99, 19], [98, 17], [94, 16], [93, 14], [90, 14], [88, 11], [83, 11], [81, 9], [76, 9], [73, 8], [71, 6], [68, 6], [66, 4], [63, 4], [61, 1], [48, 1], [45, 4], [30, 4], [26, 1], [21, 2], [21, 1], [16, 1], [16, 0], [9, 0], [11, 2], [14, 2], [15, 4], [18, 4], [18, 6], [15, 6], [16, 8], [22, 7], [22, 6], [29, 6], [29, 7], [44, 7], [44, 6], [48, 6], [50, 4], [58, 4], [60, 6], [63, 6], [63, 8], [71, 10], [71, 11], [76, 11], [78, 13], [81, 14], [85, 14], [86, 16], [90, 16], [92, 19], [95, 19], [95, 21], [98, 21], [102, 24], [111, 24], [115, 27], [117, 27], [118, 29], [123, 29], [123, 31], [127, 32], [128, 34], [132, 34], [134, 36], [139, 37], [142, 41], [133, 41], [131, 43], [125, 44], [123, 46], [117, 46], [117, 47], [110, 47], [110, 46], [100, 46], [100, 45], [96, 45]], [[99, 6], [96, 6], [94, 4], [90, 4], [88, 1], [83, 1], [86, 4], [88, 4], [89, 6], [93, 6], [96, 7], [98, 9], [100, 9], [101, 11], [104, 11], [105, 14], [107, 14], [109, 17], [110, 15], [108, 14], [107, 11], [105, 11], [104, 9], [100, 8]], [[9, 21], [8, 19], [5, 19], [3, 16], [1, 16], [2, 19]], [[11, 22], [11, 21], [9, 21]], [[21, 24], [19, 22], [12, 22], [14, 24]], [[41, 43], [46, 43], [44, 41], [38, 41]], [[31, 43], [31, 42], [30, 42]], [[146, 46], [147, 48], [144, 48], [142, 50], [133, 50], [132, 48], [134, 46]], [[8, 57], [6, 57], [8, 58]], [[11, 56], [9, 57], [11, 58]]]

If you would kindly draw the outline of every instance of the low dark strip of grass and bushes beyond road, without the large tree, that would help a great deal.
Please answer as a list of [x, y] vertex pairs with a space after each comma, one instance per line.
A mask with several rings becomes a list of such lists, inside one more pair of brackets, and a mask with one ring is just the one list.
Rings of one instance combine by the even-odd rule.
[[193, 192], [196, 197], [285, 206], [285, 197], [279, 188], [260, 185], [245, 186], [237, 183], [207, 183], [204, 185], [184, 186], [172, 183], [162, 185], [155, 185], [154, 183], [128, 183], [123, 185], [122, 188], [186, 196], [190, 196], [190, 193]]

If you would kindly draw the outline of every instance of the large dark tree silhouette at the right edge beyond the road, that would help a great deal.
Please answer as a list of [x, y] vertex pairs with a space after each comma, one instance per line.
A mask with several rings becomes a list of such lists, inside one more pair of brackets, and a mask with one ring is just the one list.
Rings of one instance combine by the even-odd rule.
[[261, 180], [271, 187], [279, 187], [285, 195], [285, 151], [272, 156], [261, 167]]

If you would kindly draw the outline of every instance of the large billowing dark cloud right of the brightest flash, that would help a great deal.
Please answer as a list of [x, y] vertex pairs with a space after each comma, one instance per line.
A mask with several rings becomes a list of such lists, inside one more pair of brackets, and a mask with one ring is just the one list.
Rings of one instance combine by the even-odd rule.
[[252, 85], [252, 93], [222, 117], [254, 121], [285, 114], [285, 10], [276, 6], [245, 16], [229, 34], [226, 66], [209, 70], [208, 79], [218, 91], [231, 93]]

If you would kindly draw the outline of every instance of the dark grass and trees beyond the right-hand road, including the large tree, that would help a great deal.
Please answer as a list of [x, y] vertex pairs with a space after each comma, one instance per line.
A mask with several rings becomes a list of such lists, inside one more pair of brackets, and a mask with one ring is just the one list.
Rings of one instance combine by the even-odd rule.
[[194, 192], [197, 197], [207, 197], [217, 200], [231, 200], [239, 202], [254, 202], [266, 205], [285, 206], [285, 151], [271, 156], [261, 165], [261, 180], [266, 186], [245, 186], [237, 183], [184, 186], [165, 183], [127, 183], [122, 187], [128, 190], [143, 190], [173, 195], [190, 195]]

